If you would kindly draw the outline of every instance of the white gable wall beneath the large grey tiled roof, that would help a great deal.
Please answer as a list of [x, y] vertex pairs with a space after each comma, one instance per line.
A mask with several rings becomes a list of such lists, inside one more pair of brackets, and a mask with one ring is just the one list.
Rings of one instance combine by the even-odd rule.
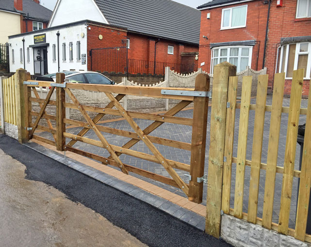
[[81, 20], [93, 20], [109, 24], [94, 0], [58, 0], [49, 27]]

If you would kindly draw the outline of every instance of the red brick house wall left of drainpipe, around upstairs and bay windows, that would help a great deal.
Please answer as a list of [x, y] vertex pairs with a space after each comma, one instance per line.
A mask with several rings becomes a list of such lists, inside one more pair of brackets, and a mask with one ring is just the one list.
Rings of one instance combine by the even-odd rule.
[[[247, 5], [246, 27], [220, 30], [222, 9], [232, 6]], [[210, 72], [211, 64], [211, 43], [256, 40], [256, 45], [252, 51], [251, 68], [255, 70], [262, 69], [263, 46], [266, 30], [268, 5], [263, 4], [262, 0], [243, 2], [235, 5], [227, 5], [201, 11], [201, 29], [198, 65], [203, 70]], [[211, 14], [207, 19], [207, 13]], [[208, 37], [203, 38], [205, 35]], [[204, 66], [200, 66], [205, 62]]]

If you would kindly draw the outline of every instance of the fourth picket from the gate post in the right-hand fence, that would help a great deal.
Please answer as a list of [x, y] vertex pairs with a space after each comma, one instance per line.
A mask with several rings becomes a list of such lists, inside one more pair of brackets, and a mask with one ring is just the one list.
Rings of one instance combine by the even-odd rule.
[[281, 128], [285, 73], [275, 74], [270, 118], [266, 178], [262, 211], [262, 226], [271, 230], [274, 190], [278, 162], [279, 130]]

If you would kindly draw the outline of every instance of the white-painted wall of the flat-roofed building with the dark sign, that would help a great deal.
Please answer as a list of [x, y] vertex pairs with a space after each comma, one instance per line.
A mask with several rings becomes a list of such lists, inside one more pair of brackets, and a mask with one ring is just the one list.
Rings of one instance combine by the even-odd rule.
[[[45, 30], [43, 32], [35, 32], [30, 34], [25, 34], [23, 36], [18, 36], [14, 38], [9, 38], [9, 43], [11, 46], [10, 50], [10, 72], [15, 72], [18, 68], [24, 68], [24, 62], [20, 62], [20, 49], [23, 48], [22, 39], [25, 39], [25, 68], [32, 75], [34, 74], [33, 67], [33, 48], [29, 48], [30, 62], [27, 62], [27, 48], [33, 45], [33, 36], [38, 34], [46, 33], [46, 43], [48, 46], [48, 72], [55, 73], [58, 72], [58, 57], [57, 57], [57, 31], [59, 31], [59, 59], [60, 59], [60, 71], [63, 70], [87, 70], [87, 27], [84, 24], [60, 28], [56, 30]], [[81, 33], [84, 33], [82, 38]], [[77, 41], [81, 43], [81, 54], [86, 54], [86, 64], [82, 65], [82, 61], [77, 61]], [[69, 42], [73, 43], [73, 61], [69, 62]], [[63, 62], [63, 47], [62, 44], [66, 44], [66, 61]], [[52, 47], [53, 44], [56, 45], [56, 62], [53, 62]], [[12, 63], [12, 49], [14, 49], [14, 60]]]

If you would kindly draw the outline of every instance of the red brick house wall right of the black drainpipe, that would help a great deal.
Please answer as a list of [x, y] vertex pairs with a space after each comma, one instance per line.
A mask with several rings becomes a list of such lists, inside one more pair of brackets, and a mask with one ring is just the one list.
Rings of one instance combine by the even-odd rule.
[[[296, 19], [296, 0], [283, 0], [283, 6], [277, 7], [273, 1], [270, 9], [269, 35], [266, 49], [267, 73], [269, 74], [269, 86], [272, 86], [275, 67], [277, 64], [277, 47], [283, 37], [311, 35], [311, 18]], [[284, 94], [290, 95], [291, 80], [286, 80]], [[304, 81], [303, 95], [309, 93], [310, 81]]]

